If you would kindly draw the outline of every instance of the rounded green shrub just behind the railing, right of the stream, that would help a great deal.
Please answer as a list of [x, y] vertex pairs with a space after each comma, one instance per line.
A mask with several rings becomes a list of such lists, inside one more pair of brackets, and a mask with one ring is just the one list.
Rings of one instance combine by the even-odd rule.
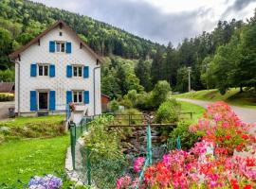
[[170, 99], [160, 105], [155, 120], [157, 123], [174, 123], [178, 121], [179, 112], [180, 104], [175, 99]]

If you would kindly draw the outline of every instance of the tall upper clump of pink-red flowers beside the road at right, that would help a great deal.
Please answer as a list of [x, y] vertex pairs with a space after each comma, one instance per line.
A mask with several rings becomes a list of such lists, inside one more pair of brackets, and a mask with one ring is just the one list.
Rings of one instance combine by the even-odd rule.
[[255, 137], [249, 133], [253, 124], [243, 123], [225, 102], [211, 104], [204, 117], [192, 125], [190, 130], [211, 142], [216, 153], [232, 155], [233, 150], [242, 151], [255, 143]]

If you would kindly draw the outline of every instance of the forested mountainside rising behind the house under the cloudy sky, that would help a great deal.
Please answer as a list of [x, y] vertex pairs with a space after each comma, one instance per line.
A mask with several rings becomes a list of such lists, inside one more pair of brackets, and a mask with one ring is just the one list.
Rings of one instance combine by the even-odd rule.
[[152, 57], [160, 46], [115, 26], [64, 9], [47, 8], [28, 0], [1, 0], [0, 69], [11, 66], [8, 59], [10, 52], [29, 42], [56, 20], [64, 20], [101, 56], [117, 55], [126, 59]]

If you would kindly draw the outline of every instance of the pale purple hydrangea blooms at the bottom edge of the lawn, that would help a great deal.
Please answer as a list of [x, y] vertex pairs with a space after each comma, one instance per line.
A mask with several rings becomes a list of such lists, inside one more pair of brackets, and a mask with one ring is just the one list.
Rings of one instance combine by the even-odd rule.
[[35, 176], [29, 180], [28, 189], [59, 189], [62, 185], [63, 181], [53, 175]]

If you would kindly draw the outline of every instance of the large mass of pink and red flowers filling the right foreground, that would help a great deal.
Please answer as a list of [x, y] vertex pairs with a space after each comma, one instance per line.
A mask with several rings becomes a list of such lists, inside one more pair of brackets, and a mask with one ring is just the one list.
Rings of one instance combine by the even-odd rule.
[[[139, 188], [256, 188], [252, 127], [255, 126], [243, 123], [226, 103], [212, 104], [190, 128], [201, 135], [202, 142], [189, 151], [170, 151], [161, 162], [147, 167]], [[141, 165], [136, 166], [136, 171], [138, 167]], [[137, 179], [125, 176], [118, 180], [117, 188], [135, 188], [135, 183]]]

